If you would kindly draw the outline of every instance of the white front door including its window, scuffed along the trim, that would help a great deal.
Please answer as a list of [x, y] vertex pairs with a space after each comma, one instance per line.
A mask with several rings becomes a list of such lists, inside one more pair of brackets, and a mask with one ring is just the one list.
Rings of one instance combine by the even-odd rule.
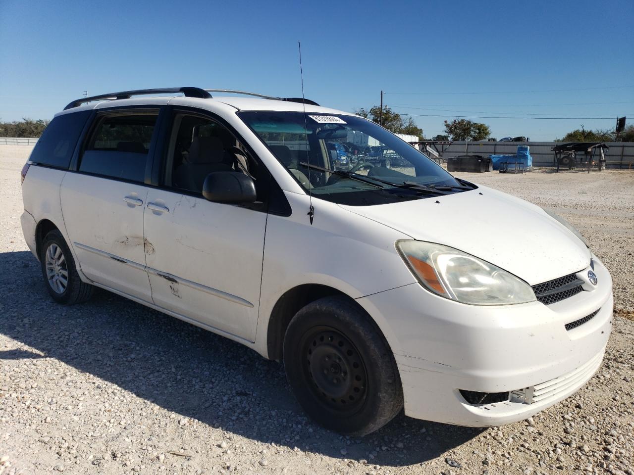
[[153, 301], [254, 341], [266, 213], [202, 197], [207, 174], [248, 168], [249, 159], [236, 158], [235, 136], [209, 118], [177, 113], [173, 124], [161, 186], [145, 206]]

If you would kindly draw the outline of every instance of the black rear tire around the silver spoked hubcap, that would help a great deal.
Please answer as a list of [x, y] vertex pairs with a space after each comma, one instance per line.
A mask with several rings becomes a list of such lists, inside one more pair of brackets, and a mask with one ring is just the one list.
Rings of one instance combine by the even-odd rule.
[[[67, 284], [61, 291], [60, 288], [54, 288], [54, 284], [49, 281], [47, 275], [46, 253], [49, 251], [49, 248], [51, 248], [51, 250], [58, 248], [63, 257], [63, 262], [58, 265], [58, 269], [62, 272], [62, 274], [60, 274], [61, 277], [63, 277], [63, 272], [67, 274]], [[49, 295], [51, 295], [53, 300], [57, 303], [74, 305], [75, 303], [82, 303], [89, 300], [89, 298], [93, 296], [94, 287], [81, 281], [79, 274], [77, 274], [73, 255], [70, 253], [70, 249], [68, 249], [68, 245], [63, 236], [61, 236], [61, 232], [57, 229], [49, 231], [44, 237], [44, 241], [42, 241], [42, 245], [40, 246], [40, 263], [44, 285]], [[50, 270], [51, 269], [49, 269], [49, 271]]]

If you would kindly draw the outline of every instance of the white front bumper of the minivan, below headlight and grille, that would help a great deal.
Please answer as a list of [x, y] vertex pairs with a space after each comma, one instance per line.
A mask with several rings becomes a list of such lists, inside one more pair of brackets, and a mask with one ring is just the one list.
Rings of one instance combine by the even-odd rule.
[[[612, 328], [612, 281], [597, 258], [594, 272], [597, 286], [587, 284], [585, 291], [551, 305], [477, 307], [434, 296], [418, 284], [358, 302], [389, 325], [386, 334], [396, 339], [389, 343], [406, 415], [461, 426], [499, 426], [573, 394], [600, 366]], [[566, 329], [597, 310], [588, 321]], [[523, 391], [510, 394], [506, 402], [476, 405], [460, 390]]]

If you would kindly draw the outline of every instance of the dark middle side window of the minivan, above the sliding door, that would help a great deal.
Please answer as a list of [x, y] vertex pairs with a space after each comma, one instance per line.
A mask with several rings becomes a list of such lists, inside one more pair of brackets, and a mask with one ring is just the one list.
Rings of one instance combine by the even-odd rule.
[[98, 118], [84, 147], [79, 171], [143, 182], [158, 117], [157, 111]]

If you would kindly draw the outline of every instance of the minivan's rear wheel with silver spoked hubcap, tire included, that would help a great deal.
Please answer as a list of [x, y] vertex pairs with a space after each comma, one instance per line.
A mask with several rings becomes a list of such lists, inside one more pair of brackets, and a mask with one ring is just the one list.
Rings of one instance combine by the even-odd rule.
[[81, 281], [60, 231], [54, 229], [46, 234], [40, 249], [42, 276], [53, 300], [73, 305], [91, 298], [94, 288]]

